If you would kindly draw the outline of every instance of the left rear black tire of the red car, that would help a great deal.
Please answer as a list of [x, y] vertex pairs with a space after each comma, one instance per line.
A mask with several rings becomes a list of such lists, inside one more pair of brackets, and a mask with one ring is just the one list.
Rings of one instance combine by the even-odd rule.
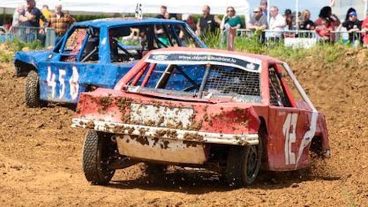
[[114, 150], [110, 137], [104, 133], [89, 130], [83, 146], [83, 172], [93, 185], [106, 185], [115, 173], [107, 164]]

